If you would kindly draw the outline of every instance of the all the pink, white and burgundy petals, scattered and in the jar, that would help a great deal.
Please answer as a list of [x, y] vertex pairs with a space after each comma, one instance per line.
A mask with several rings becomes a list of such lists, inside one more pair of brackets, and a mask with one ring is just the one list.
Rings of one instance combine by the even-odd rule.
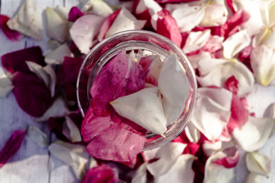
[[[0, 97], [12, 92], [21, 109], [45, 122], [59, 140], [48, 144], [36, 125], [28, 136], [71, 166], [80, 182], [231, 182], [240, 151], [247, 152], [245, 182], [270, 177], [271, 160], [259, 149], [275, 131], [274, 1], [116, 2], [48, 7], [47, 45], [1, 56]], [[10, 41], [23, 35], [41, 39], [37, 17], [32, 1], [25, 0], [14, 17], [0, 14], [0, 29]], [[142, 153], [146, 130], [165, 135], [181, 116], [190, 84], [175, 55], [162, 61], [141, 50], [122, 50], [94, 80], [83, 119], [76, 100], [83, 58], [123, 30], [166, 36], [188, 56], [199, 84], [185, 131]], [[24, 135], [12, 133], [0, 151], [0, 168]]]

